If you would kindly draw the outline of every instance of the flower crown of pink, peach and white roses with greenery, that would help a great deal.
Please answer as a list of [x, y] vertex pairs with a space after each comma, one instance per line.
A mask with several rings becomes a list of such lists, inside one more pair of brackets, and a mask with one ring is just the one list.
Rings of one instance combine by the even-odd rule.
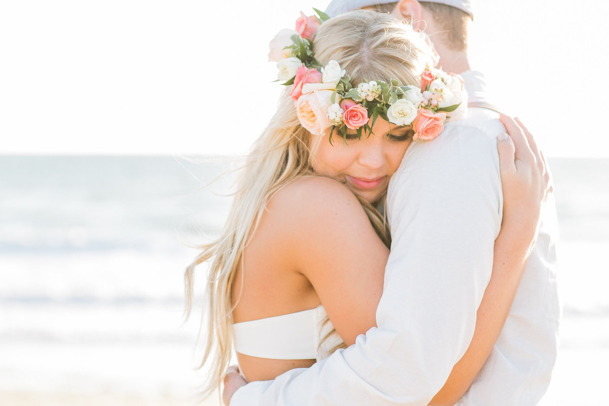
[[330, 142], [337, 129], [347, 138], [347, 129], [368, 135], [376, 119], [382, 117], [396, 125], [412, 125], [414, 139], [434, 139], [444, 122], [465, 110], [466, 93], [459, 75], [429, 65], [421, 74], [421, 87], [401, 86], [396, 80], [364, 80], [357, 86], [337, 61], [321, 66], [312, 52], [315, 32], [329, 19], [320, 10], [317, 16], [300, 12], [295, 30], [283, 29], [270, 41], [269, 61], [276, 61], [278, 80], [292, 86], [300, 124], [314, 135], [328, 128]]

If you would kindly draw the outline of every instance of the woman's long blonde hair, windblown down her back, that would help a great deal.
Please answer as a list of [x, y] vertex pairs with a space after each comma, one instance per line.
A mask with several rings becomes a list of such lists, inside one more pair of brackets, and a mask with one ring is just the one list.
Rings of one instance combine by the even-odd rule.
[[[381, 13], [357, 10], [332, 18], [315, 35], [315, 58], [325, 65], [336, 60], [350, 74], [352, 83], [365, 79], [420, 86], [420, 74], [431, 65], [431, 50], [420, 34], [397, 19]], [[294, 102], [286, 89], [270, 124], [256, 140], [238, 180], [227, 222], [220, 237], [202, 248], [186, 268], [186, 317], [192, 307], [195, 267], [209, 261], [207, 323], [200, 329], [202, 360], [209, 369], [203, 394], [220, 386], [232, 355], [232, 310], [238, 298], [231, 297], [242, 253], [252, 238], [267, 202], [282, 187], [298, 177], [314, 176], [311, 159], [320, 137], [301, 127]], [[312, 139], [314, 138], [314, 139]], [[346, 147], [348, 148], [348, 147]], [[389, 247], [389, 228], [384, 215], [361, 200], [377, 234]]]

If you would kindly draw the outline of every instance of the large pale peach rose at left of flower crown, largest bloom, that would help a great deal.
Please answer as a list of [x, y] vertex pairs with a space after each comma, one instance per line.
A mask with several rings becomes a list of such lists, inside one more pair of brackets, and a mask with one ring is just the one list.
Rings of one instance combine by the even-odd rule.
[[303, 94], [296, 105], [300, 124], [312, 135], [323, 135], [330, 127], [328, 107], [332, 105], [332, 90], [315, 90]]

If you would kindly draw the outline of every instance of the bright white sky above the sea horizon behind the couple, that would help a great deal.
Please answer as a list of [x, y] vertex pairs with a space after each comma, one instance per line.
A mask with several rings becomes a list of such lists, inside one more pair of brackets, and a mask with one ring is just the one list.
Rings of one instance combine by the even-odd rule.
[[[280, 90], [269, 40], [328, 2], [4, 2], [0, 154], [245, 153]], [[473, 2], [473, 68], [505, 110], [547, 156], [609, 157], [609, 2]]]

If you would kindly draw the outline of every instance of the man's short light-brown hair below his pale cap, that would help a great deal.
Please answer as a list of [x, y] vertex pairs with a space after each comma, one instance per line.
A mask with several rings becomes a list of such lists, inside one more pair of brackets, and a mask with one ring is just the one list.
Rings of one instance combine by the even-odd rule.
[[[435, 22], [443, 30], [443, 40], [446, 46], [453, 51], [467, 49], [467, 23], [470, 19], [468, 13], [451, 5], [435, 2], [420, 1], [434, 17]], [[390, 13], [395, 9], [395, 3], [375, 4], [373, 7], [379, 12]]]

